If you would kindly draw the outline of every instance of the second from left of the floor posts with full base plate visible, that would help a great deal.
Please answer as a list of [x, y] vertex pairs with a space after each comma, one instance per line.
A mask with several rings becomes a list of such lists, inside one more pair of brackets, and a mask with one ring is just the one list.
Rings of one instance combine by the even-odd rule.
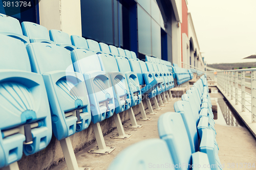
[[115, 123], [116, 123], [116, 128], [118, 131], [118, 134], [111, 136], [111, 138], [114, 139], [128, 139], [130, 138], [132, 135], [131, 134], [125, 134], [124, 129], [123, 129], [123, 125], [120, 119], [120, 115], [114, 113], [113, 115]]

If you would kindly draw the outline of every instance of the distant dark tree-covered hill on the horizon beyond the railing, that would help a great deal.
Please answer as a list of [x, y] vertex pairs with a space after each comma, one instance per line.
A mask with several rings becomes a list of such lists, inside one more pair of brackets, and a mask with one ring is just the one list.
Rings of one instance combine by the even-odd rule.
[[247, 63], [216, 63], [216, 64], [207, 64], [208, 67], [216, 69], [242, 69], [242, 68], [253, 68], [256, 67], [256, 62], [247, 62]]

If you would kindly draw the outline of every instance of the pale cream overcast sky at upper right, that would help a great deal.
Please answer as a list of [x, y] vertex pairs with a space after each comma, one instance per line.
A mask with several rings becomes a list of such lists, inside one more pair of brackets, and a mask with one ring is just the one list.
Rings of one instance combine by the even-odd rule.
[[187, 1], [207, 63], [256, 61], [256, 0]]

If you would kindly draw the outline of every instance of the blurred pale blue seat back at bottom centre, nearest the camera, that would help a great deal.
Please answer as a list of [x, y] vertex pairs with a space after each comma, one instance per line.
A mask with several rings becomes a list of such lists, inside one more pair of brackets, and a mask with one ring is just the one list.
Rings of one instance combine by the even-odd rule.
[[168, 168], [175, 170], [168, 146], [161, 139], [147, 139], [124, 149], [112, 161], [108, 170], [150, 170]]

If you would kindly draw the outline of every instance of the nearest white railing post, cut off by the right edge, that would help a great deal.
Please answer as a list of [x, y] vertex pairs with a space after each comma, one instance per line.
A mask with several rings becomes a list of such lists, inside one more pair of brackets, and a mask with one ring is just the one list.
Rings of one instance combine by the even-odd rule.
[[256, 71], [251, 71], [251, 122], [256, 122]]

